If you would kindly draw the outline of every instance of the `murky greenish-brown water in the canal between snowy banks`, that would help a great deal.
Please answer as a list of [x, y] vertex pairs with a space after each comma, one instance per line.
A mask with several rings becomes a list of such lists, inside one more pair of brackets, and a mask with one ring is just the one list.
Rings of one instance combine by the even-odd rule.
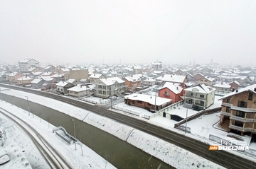
[[[13, 103], [27, 110], [28, 105], [26, 98], [21, 99], [4, 94], [2, 96], [3, 100], [6, 102]], [[29, 102], [29, 106], [34, 115], [41, 117], [43, 120], [50, 122], [50, 124], [56, 127], [64, 127], [69, 134], [73, 135], [72, 119], [74, 117], [33, 102]], [[80, 120], [75, 121], [75, 129], [76, 137], [80, 139], [83, 144], [90, 147], [93, 151], [112, 163], [116, 168], [173, 168], [163, 161], [160, 161], [158, 158], [128, 144], [126, 141], [122, 141], [116, 136]]]

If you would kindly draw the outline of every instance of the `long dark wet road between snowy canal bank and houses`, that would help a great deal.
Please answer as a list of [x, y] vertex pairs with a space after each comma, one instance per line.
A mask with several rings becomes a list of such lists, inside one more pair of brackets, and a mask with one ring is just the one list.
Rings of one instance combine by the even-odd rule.
[[61, 95], [54, 95], [52, 93], [35, 91], [29, 88], [19, 88], [17, 86], [9, 86], [9, 85], [3, 85], [3, 84], [1, 84], [0, 86], [16, 89], [19, 91], [34, 93], [36, 95], [42, 95], [48, 98], [53, 98], [55, 100], [60, 100], [65, 103], [69, 103], [70, 105], [75, 105], [85, 110], [95, 112], [97, 115], [103, 115], [105, 117], [109, 117], [112, 120], [115, 120], [123, 124], [127, 124], [130, 127], [134, 127], [135, 129], [141, 130], [142, 132], [146, 132], [153, 136], [157, 136], [160, 139], [168, 141], [171, 144], [175, 144], [176, 146], [184, 148], [187, 151], [191, 151], [192, 153], [195, 153], [198, 156], [202, 156], [203, 158], [206, 158], [209, 161], [212, 161], [213, 163], [218, 163], [219, 165], [222, 165], [225, 168], [237, 168], [237, 169], [248, 168], [249, 169], [249, 168], [255, 168], [256, 166], [255, 162], [249, 161], [245, 158], [235, 156], [233, 153], [228, 153], [227, 151], [209, 151], [208, 150], [209, 145], [201, 141], [183, 136], [176, 132], [172, 132], [169, 129], [164, 129], [154, 124], [149, 124], [148, 122], [139, 120], [137, 118], [133, 118], [127, 115], [122, 115], [122, 114], [113, 112], [111, 110], [107, 110], [105, 107], [89, 105], [85, 102], [81, 102], [80, 100], [73, 100], [70, 98], [65, 98]]

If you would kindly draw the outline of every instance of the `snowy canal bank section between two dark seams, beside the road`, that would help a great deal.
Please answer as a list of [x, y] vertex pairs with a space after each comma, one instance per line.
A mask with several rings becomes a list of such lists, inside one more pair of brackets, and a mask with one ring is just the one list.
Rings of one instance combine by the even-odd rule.
[[105, 132], [108, 132], [114, 136], [117, 136], [119, 139], [127, 140], [129, 133], [132, 131], [132, 127], [126, 126], [124, 124], [120, 124], [115, 122], [114, 120], [110, 120], [106, 117], [102, 117], [100, 115], [95, 115], [94, 113], [90, 113], [85, 118], [84, 122], [87, 124], [91, 124], [94, 127], [102, 129]]

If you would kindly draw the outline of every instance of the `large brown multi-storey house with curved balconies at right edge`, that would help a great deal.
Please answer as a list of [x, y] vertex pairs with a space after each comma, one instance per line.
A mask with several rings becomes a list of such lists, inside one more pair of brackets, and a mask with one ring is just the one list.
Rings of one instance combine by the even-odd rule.
[[228, 93], [220, 100], [220, 126], [228, 132], [255, 136], [256, 84]]

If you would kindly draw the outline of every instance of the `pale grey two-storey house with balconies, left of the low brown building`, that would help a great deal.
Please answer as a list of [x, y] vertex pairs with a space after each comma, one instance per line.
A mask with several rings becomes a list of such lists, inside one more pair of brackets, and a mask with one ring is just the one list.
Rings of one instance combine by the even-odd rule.
[[121, 96], [124, 93], [124, 81], [118, 77], [102, 78], [95, 81], [94, 95], [99, 98]]

